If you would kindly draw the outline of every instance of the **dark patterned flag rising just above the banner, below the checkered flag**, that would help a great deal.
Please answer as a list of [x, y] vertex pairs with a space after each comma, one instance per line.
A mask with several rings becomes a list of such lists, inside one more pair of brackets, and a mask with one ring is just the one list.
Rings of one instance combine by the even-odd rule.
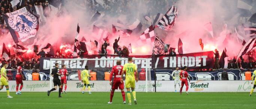
[[156, 40], [153, 48], [153, 54], [161, 55], [165, 53], [164, 46], [165, 43], [156, 35]]

